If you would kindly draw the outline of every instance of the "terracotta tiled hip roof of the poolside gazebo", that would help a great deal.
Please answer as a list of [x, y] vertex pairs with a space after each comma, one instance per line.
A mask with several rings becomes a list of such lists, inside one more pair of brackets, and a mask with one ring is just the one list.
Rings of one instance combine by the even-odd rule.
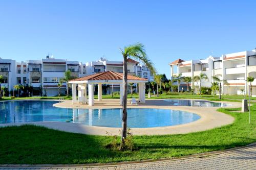
[[[70, 81], [84, 81], [84, 80], [122, 80], [123, 79], [123, 74], [119, 72], [114, 72], [114, 71], [105, 71], [105, 72], [100, 72], [94, 75], [89, 75], [86, 77], [78, 78], [78, 79], [73, 79]], [[142, 80], [142, 81], [147, 81], [147, 79], [144, 78], [139, 78], [136, 76], [128, 75], [127, 80]]]

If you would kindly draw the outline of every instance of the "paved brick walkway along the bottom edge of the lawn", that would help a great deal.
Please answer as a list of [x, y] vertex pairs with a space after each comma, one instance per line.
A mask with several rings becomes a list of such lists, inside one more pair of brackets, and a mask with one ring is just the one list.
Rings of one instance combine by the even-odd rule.
[[134, 163], [109, 166], [70, 166], [70, 167], [8, 167], [9, 169], [256, 169], [256, 145], [253, 147], [227, 151], [219, 155], [201, 158], [184, 158], [147, 163]]

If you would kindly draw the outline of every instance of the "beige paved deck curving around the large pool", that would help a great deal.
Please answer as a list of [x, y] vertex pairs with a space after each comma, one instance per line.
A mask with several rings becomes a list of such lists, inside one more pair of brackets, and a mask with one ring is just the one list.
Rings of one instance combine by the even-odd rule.
[[[179, 99], [182, 100], [182, 99]], [[191, 100], [191, 99], [189, 99]], [[238, 102], [223, 102], [231, 104], [227, 108], [238, 108], [241, 107], [241, 103]], [[119, 105], [119, 100], [105, 99], [102, 101], [95, 100], [94, 106], [88, 106], [86, 104], [72, 104], [71, 100], [66, 100], [61, 103], [54, 104], [55, 107], [60, 108], [73, 108], [73, 109], [106, 109], [106, 108], [122, 108]], [[196, 113], [201, 116], [195, 122], [167, 126], [167, 127], [156, 127], [156, 128], [132, 128], [131, 132], [134, 135], [167, 135], [167, 134], [185, 134], [190, 132], [205, 131], [212, 128], [217, 128], [233, 123], [234, 118], [230, 115], [218, 112], [217, 109], [220, 107], [190, 107], [190, 106], [169, 106], [169, 103], [163, 100], [146, 100], [144, 104], [131, 105], [128, 104], [127, 108], [156, 108], [156, 109], [172, 109], [182, 110], [191, 113]], [[241, 113], [243, 114], [243, 113]], [[63, 122], [33, 122], [33, 123], [11, 123], [11, 124], [0, 124], [0, 127], [4, 126], [20, 126], [25, 124], [44, 126], [50, 129], [91, 134], [91, 135], [106, 135], [109, 132], [112, 135], [119, 135], [120, 128], [109, 128], [109, 127], [96, 127], [86, 126], [82, 124], [63, 123]]]

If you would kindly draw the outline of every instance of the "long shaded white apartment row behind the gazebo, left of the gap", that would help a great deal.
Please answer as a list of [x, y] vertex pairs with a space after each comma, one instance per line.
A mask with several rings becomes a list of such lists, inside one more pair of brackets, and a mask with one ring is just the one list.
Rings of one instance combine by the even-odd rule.
[[[146, 78], [150, 81], [154, 80], [153, 75], [145, 65], [128, 59], [127, 69], [129, 74]], [[58, 87], [60, 79], [64, 77], [65, 71], [70, 70], [73, 78], [84, 77], [103, 71], [123, 71], [122, 61], [108, 61], [101, 58], [98, 61], [91, 61], [83, 64], [79, 61], [70, 61], [65, 59], [55, 59], [47, 56], [44, 59], [28, 60], [27, 62], [16, 62], [15, 60], [0, 58], [0, 75], [4, 77], [2, 86], [13, 90], [14, 85], [23, 84], [33, 86], [32, 95], [40, 95], [40, 89], [47, 96], [58, 95]], [[66, 93], [67, 84], [62, 83], [60, 92]], [[111, 88], [112, 89], [112, 88]], [[119, 91], [119, 85], [113, 85], [113, 91]], [[108, 88], [110, 93], [110, 87]]]

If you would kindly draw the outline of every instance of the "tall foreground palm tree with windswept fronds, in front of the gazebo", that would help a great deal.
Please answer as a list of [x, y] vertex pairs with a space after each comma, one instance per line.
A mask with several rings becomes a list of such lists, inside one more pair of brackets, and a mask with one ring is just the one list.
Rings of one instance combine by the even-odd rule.
[[138, 59], [145, 63], [148, 69], [155, 75], [156, 69], [153, 63], [148, 59], [146, 52], [144, 50], [144, 45], [141, 43], [136, 43], [124, 47], [124, 49], [119, 48], [123, 56], [123, 100], [122, 100], [122, 131], [121, 131], [121, 144], [120, 150], [124, 149], [124, 139], [126, 138], [127, 132], [127, 59], [132, 57]]

